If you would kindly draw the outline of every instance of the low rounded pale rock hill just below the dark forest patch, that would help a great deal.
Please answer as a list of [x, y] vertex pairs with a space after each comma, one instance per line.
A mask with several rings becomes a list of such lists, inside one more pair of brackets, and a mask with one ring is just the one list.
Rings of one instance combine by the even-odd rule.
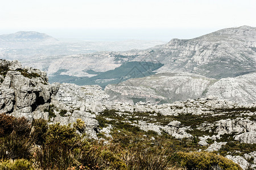
[[105, 92], [114, 102], [134, 104], [133, 99], [143, 99], [151, 103], [172, 103], [200, 98], [214, 81], [216, 80], [196, 74], [163, 73], [111, 84], [106, 86]]

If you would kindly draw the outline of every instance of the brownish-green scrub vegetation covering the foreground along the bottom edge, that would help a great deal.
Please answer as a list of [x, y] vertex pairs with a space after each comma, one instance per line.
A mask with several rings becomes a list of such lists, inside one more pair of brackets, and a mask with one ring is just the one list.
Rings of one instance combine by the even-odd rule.
[[0, 169], [241, 169], [222, 156], [196, 152], [202, 148], [198, 138], [178, 140], [102, 115], [97, 117], [102, 127], [113, 125], [113, 138], [99, 134], [108, 144], [77, 134], [85, 128], [79, 119], [73, 126], [42, 119], [30, 124], [0, 114]]

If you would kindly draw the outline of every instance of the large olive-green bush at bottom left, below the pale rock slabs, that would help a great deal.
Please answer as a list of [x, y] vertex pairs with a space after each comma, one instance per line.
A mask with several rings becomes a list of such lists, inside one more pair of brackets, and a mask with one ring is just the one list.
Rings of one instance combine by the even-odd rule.
[[89, 147], [89, 143], [82, 140], [71, 125], [49, 125], [45, 139], [44, 145], [36, 148], [34, 154], [37, 167], [43, 169], [77, 167], [81, 152]]

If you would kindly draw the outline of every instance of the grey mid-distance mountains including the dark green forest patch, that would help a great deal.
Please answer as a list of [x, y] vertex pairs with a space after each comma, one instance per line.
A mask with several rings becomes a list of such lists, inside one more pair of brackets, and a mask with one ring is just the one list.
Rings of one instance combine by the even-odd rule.
[[225, 28], [141, 50], [20, 60], [47, 71], [51, 83], [98, 84], [113, 101], [161, 104], [208, 95], [243, 104], [256, 100], [255, 27]]

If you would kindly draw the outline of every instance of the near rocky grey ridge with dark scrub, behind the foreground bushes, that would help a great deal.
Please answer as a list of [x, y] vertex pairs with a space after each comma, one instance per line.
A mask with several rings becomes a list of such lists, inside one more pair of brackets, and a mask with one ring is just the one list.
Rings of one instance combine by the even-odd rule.
[[[214, 151], [243, 169], [256, 166], [255, 104], [238, 105], [213, 96], [159, 105], [113, 103], [100, 86], [49, 84], [45, 72], [22, 67], [18, 61], [1, 60], [0, 68], [1, 113], [24, 116], [29, 121], [44, 118], [49, 124], [67, 125], [81, 120], [86, 125], [83, 133], [105, 143], [124, 140], [157, 146], [161, 139], [186, 147], [192, 141], [193, 149]], [[214, 80], [193, 74], [180, 76], [206, 85]], [[195, 90], [194, 95], [205, 86]]]

